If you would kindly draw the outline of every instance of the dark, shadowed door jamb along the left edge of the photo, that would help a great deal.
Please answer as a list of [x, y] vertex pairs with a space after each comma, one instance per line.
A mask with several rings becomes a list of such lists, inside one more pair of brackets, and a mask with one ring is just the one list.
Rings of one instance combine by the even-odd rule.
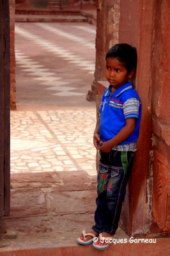
[[[0, 218], [10, 214], [10, 15], [0, 4]], [[1, 225], [0, 225], [1, 230]]]

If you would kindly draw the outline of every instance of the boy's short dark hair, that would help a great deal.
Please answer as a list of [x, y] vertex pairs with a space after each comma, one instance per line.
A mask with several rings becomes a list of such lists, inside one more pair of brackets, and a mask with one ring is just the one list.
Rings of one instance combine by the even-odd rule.
[[135, 47], [129, 44], [115, 44], [107, 52], [105, 60], [107, 58], [117, 58], [119, 61], [126, 63], [127, 72], [130, 73], [137, 67], [137, 51]]

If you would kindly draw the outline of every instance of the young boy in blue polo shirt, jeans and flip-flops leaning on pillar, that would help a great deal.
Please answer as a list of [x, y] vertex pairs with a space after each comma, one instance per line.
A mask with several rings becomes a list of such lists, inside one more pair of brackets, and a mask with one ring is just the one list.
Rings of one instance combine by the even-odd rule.
[[[128, 44], [116, 44], [107, 52], [105, 60], [105, 77], [110, 85], [102, 96], [93, 138], [100, 150], [95, 225], [90, 233], [83, 231], [77, 239], [79, 244], [93, 243], [98, 250], [109, 246], [106, 239], [113, 238], [118, 228], [141, 120], [141, 101], [128, 82], [137, 66], [136, 49]], [[93, 242], [93, 237], [98, 237], [98, 241]]]

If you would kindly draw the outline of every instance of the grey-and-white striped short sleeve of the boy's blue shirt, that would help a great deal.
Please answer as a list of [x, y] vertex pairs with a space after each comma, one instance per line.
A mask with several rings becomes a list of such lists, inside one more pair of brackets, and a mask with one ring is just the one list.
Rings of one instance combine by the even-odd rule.
[[130, 98], [123, 104], [123, 114], [125, 119], [138, 118], [140, 102], [136, 98]]

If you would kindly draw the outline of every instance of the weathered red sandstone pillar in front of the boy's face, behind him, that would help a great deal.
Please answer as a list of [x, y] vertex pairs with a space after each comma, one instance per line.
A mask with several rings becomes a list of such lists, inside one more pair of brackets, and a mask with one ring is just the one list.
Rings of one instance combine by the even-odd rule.
[[97, 95], [97, 81], [105, 80], [105, 54], [112, 45], [118, 43], [118, 24], [120, 0], [98, 0], [95, 80], [87, 99], [94, 100]]

